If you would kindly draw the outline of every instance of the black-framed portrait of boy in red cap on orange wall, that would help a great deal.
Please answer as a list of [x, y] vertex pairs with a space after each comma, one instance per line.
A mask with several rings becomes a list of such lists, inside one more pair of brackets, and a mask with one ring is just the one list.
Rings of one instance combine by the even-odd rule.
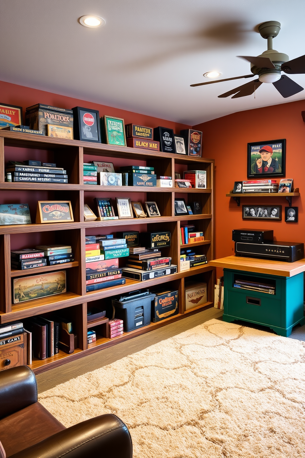
[[265, 180], [270, 177], [285, 176], [286, 140], [267, 140], [248, 143], [248, 178]]

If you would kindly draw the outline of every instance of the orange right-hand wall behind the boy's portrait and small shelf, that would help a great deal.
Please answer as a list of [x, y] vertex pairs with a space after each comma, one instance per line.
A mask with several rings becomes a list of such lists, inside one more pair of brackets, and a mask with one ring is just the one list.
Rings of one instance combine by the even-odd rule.
[[[234, 104], [234, 101], [228, 103]], [[215, 159], [216, 258], [234, 253], [232, 229], [273, 229], [276, 240], [305, 243], [305, 208], [302, 204], [305, 123], [302, 110], [305, 110], [305, 100], [241, 111], [195, 126], [203, 131], [203, 156]], [[293, 178], [294, 187], [300, 188], [301, 196], [292, 201], [294, 207], [299, 207], [299, 222], [284, 222], [284, 208], [288, 206], [284, 197], [241, 199], [241, 206], [282, 205], [282, 221], [243, 220], [242, 207], [237, 207], [225, 194], [233, 189], [234, 181], [247, 179], [247, 143], [280, 138], [286, 138], [286, 178]]]

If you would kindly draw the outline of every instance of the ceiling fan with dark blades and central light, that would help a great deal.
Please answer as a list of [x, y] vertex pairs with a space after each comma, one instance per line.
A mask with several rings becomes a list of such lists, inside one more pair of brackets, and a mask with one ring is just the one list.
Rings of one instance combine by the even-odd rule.
[[281, 75], [281, 71], [289, 75], [297, 73], [305, 73], [305, 55], [297, 57], [296, 59], [289, 60], [287, 54], [279, 53], [272, 49], [272, 39], [276, 37], [281, 29], [281, 24], [277, 21], [263, 22], [259, 27], [259, 33], [262, 38], [266, 38], [268, 42], [268, 49], [257, 57], [252, 56], [237, 56], [245, 59], [251, 63], [251, 75], [235, 76], [234, 78], [226, 78], [217, 81], [207, 81], [204, 83], [191, 84], [192, 87], [203, 86], [205, 84], [219, 83], [222, 81], [238, 80], [241, 78], [251, 78], [258, 76], [258, 79], [252, 80], [242, 86], [235, 87], [231, 91], [225, 92], [218, 97], [239, 98], [251, 95], [262, 83], [272, 83], [273, 86], [283, 97], [291, 97], [304, 88], [291, 80], [286, 75]]

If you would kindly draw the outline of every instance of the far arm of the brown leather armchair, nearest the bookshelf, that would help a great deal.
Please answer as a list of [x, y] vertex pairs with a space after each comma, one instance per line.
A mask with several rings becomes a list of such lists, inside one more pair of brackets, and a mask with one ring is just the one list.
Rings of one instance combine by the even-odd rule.
[[29, 367], [12, 367], [0, 372], [0, 419], [36, 402], [36, 379]]

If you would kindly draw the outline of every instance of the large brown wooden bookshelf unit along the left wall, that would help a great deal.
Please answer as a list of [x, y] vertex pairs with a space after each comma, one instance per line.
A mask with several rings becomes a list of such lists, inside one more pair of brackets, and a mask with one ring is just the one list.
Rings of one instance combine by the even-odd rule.
[[[67, 170], [68, 184], [15, 183], [5, 182], [5, 164], [9, 160], [27, 159], [54, 162]], [[155, 168], [158, 175], [175, 177], [175, 171], [183, 175], [185, 170], [206, 170], [208, 189], [159, 188], [149, 190], [138, 186], [100, 186], [83, 184], [83, 163], [93, 160], [112, 162], [116, 170], [120, 166], [147, 165]], [[214, 160], [189, 157], [180, 154], [161, 153], [130, 147], [119, 147], [78, 140], [54, 139], [0, 130], [0, 203], [28, 203], [32, 221], [36, 218], [38, 200], [70, 200], [74, 215], [73, 223], [57, 224], [18, 224], [0, 226], [0, 323], [22, 320], [27, 317], [44, 315], [52, 318], [54, 312], [69, 318], [73, 332], [77, 334], [78, 348], [74, 353], [59, 353], [45, 360], [33, 359], [30, 367], [37, 374], [87, 354], [118, 344], [139, 334], [165, 326], [186, 316], [209, 308], [214, 302], [215, 267], [209, 264], [214, 259]], [[175, 216], [175, 195], [184, 197], [187, 203], [201, 202], [202, 214]], [[95, 197], [130, 197], [131, 201], [156, 202], [161, 213], [156, 218], [119, 219], [114, 221], [84, 221], [84, 203], [96, 212]], [[196, 231], [203, 232], [204, 241], [180, 245], [180, 225], [194, 224]], [[161, 248], [162, 256], [171, 256], [172, 264], [177, 264], [177, 273], [161, 278], [139, 282], [126, 279], [126, 284], [86, 293], [85, 236], [114, 234], [123, 230], [153, 232], [171, 231], [171, 246]], [[59, 266], [46, 266], [31, 270], [11, 270], [11, 250], [33, 248], [36, 245], [64, 243], [72, 245], [75, 261]], [[192, 247], [198, 254], [205, 254], [208, 264], [180, 272], [180, 248]], [[119, 267], [125, 265], [126, 258], [119, 258]], [[67, 292], [12, 304], [11, 281], [22, 275], [32, 275], [55, 270], [66, 270]], [[185, 310], [184, 287], [187, 282], [207, 283], [208, 302], [200, 307]], [[123, 333], [115, 338], [105, 337], [104, 326], [97, 326], [96, 342], [87, 345], [87, 306], [102, 308], [109, 304], [111, 297], [137, 289], [178, 289], [179, 314], [161, 322], [150, 323], [134, 331]], [[98, 330], [101, 329], [101, 334]]]

